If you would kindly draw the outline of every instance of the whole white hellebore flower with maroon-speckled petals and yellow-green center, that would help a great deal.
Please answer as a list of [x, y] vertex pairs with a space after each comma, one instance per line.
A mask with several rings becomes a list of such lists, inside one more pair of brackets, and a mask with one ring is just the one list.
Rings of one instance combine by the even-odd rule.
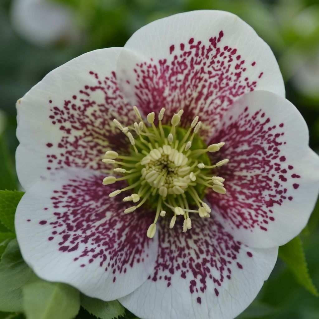
[[141, 318], [235, 317], [318, 194], [284, 96], [271, 49], [223, 11], [154, 21], [53, 70], [17, 102], [26, 262]]

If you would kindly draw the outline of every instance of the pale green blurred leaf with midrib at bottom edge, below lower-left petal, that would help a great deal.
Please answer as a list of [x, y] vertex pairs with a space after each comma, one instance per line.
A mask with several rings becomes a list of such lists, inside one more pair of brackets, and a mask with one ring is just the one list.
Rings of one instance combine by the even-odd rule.
[[27, 319], [71, 319], [80, 310], [80, 293], [62, 283], [37, 280], [23, 287]]

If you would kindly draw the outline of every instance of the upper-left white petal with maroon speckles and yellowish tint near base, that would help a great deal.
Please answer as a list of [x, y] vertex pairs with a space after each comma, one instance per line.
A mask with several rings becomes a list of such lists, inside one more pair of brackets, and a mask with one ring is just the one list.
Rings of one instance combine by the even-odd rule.
[[104, 169], [103, 154], [125, 147], [122, 133], [111, 127], [114, 117], [125, 122], [129, 114], [112, 72], [120, 51], [101, 49], [79, 56], [19, 99], [16, 160], [25, 189], [48, 170]]

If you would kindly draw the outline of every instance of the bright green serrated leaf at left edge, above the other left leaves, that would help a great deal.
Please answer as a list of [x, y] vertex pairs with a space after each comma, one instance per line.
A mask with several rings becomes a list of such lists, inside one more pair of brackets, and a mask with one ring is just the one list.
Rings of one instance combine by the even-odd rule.
[[0, 190], [0, 221], [14, 232], [14, 214], [24, 192]]

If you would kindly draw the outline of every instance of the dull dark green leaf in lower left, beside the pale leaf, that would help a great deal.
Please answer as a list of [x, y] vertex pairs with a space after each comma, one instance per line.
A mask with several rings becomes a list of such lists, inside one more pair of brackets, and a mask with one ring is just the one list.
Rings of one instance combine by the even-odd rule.
[[0, 262], [0, 311], [22, 311], [22, 286], [35, 278], [21, 256], [17, 240], [11, 240]]

